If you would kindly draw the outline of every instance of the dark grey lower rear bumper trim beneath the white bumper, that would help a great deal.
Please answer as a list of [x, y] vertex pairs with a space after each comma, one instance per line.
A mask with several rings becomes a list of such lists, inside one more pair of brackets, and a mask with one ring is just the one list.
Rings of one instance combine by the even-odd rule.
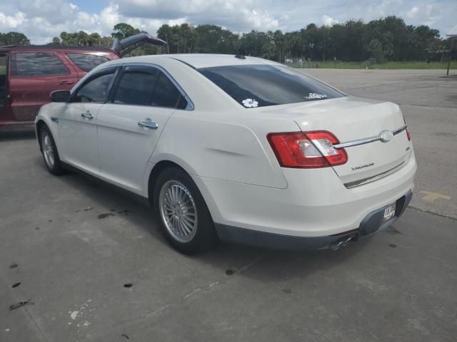
[[283, 234], [273, 234], [257, 230], [231, 227], [225, 224], [215, 224], [219, 239], [224, 242], [236, 244], [248, 244], [256, 247], [286, 250], [316, 250], [338, 249], [350, 241], [356, 241], [359, 237], [365, 237], [379, 232], [391, 226], [401, 217], [408, 207], [413, 192], [409, 191], [397, 199], [395, 216], [383, 221], [384, 207], [373, 210], [363, 218], [360, 226], [346, 234], [336, 234], [323, 237], [297, 237]]

